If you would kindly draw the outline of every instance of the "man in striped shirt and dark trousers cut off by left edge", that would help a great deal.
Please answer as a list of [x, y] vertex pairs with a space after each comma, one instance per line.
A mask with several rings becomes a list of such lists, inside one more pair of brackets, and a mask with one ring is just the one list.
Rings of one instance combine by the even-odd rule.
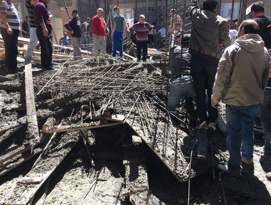
[[18, 36], [20, 19], [11, 0], [0, 1], [0, 33], [5, 44], [5, 67], [11, 73], [16, 72], [18, 54]]

